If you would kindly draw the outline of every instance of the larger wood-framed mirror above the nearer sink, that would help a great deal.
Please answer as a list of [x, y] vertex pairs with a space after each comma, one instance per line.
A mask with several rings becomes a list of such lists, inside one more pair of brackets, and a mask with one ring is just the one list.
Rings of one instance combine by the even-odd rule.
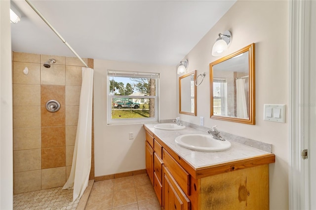
[[210, 63], [213, 119], [255, 124], [255, 44]]

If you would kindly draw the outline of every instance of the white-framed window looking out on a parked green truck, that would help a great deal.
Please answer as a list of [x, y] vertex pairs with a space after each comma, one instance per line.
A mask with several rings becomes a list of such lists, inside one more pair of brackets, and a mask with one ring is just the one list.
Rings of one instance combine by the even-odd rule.
[[108, 70], [108, 124], [158, 122], [158, 73]]

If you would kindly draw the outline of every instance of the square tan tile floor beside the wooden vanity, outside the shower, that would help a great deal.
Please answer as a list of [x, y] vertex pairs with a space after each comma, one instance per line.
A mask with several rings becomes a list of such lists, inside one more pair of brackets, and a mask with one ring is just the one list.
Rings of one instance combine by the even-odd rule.
[[94, 182], [85, 210], [161, 210], [147, 174]]

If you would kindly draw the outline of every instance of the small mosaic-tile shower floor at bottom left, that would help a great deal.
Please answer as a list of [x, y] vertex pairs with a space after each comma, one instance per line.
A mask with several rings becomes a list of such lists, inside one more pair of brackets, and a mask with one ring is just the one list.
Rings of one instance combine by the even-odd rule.
[[13, 195], [13, 210], [76, 210], [73, 190], [55, 187]]

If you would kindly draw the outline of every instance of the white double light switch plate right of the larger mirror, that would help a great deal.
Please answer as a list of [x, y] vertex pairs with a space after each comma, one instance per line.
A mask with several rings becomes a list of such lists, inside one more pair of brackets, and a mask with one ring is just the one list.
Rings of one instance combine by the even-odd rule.
[[[270, 113], [271, 110], [272, 113]], [[285, 105], [264, 105], [263, 119], [271, 122], [285, 123]]]

